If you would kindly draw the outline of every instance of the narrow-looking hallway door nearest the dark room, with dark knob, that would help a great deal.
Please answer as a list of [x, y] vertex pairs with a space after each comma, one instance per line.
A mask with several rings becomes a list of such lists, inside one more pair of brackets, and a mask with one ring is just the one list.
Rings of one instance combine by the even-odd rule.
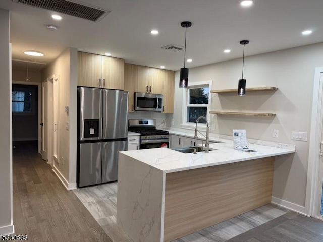
[[48, 83], [42, 83], [41, 92], [41, 158], [48, 160]]

